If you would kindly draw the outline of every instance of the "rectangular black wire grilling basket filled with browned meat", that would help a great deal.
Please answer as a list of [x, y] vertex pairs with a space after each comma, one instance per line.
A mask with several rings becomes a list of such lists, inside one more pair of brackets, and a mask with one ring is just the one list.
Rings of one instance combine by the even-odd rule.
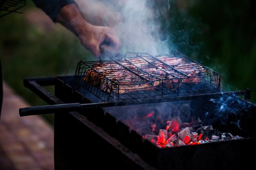
[[80, 61], [75, 81], [105, 102], [220, 92], [218, 73], [178, 52], [158, 56], [128, 52], [121, 59]]

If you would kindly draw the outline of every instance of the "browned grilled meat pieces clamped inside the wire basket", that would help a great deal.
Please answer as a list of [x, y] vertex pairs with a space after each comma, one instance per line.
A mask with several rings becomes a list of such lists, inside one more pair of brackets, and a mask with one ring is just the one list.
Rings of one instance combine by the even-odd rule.
[[137, 56], [96, 63], [83, 80], [108, 93], [153, 91], [162, 85], [175, 91], [182, 83], [201, 82], [206, 72], [203, 66], [186, 58]]

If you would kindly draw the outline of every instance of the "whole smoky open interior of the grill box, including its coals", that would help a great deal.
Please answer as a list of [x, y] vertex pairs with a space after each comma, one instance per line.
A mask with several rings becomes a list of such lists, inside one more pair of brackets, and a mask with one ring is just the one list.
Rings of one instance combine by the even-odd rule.
[[[169, 148], [247, 137], [242, 123], [243, 110], [248, 112], [250, 109], [250, 104], [246, 103], [231, 95], [210, 101], [208, 99], [144, 104], [130, 108], [122, 106], [120, 112], [115, 108], [115, 111], [109, 110], [109, 113], [159, 148]], [[240, 123], [236, 126], [230, 119], [234, 113], [237, 117], [232, 119]], [[249, 119], [248, 115], [245, 117]]]

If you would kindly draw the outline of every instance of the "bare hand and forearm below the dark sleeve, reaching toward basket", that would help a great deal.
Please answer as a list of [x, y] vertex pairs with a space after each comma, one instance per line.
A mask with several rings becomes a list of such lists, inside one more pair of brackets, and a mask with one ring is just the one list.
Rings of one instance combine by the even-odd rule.
[[67, 4], [62, 7], [57, 21], [72, 31], [79, 38], [81, 44], [95, 57], [101, 56], [100, 45], [103, 42], [112, 46], [116, 52], [119, 49], [120, 42], [114, 30], [106, 26], [95, 26], [85, 21], [76, 4]]

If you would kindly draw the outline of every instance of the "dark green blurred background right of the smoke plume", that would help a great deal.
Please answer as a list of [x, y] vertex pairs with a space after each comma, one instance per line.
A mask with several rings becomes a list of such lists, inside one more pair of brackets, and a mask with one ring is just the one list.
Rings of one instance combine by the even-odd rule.
[[221, 75], [227, 91], [256, 101], [256, 1], [171, 0], [164, 30], [180, 52]]

